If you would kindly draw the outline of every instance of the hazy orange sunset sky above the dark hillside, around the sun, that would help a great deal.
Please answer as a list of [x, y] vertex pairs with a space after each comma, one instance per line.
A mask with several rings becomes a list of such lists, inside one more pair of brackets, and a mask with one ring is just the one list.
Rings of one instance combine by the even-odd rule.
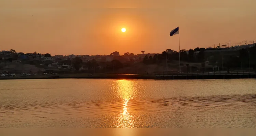
[[[160, 53], [256, 40], [256, 0], [0, 0], [1, 50]], [[121, 29], [126, 28], [122, 33]], [[216, 45], [217, 46], [217, 45]]]

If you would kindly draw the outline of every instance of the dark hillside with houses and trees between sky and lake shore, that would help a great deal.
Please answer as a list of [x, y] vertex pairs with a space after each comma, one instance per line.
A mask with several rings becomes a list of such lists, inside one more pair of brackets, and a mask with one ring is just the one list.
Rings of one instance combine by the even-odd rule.
[[[180, 55], [180, 56], [179, 56]], [[255, 44], [216, 48], [167, 49], [161, 53], [141, 54], [114, 51], [109, 55], [54, 55], [1, 51], [0, 72], [23, 75], [68, 73], [126, 73], [154, 74], [163, 71], [196, 73], [209, 71], [251, 70], [255, 71]], [[3, 74], [5, 73], [5, 74]], [[7, 74], [8, 75], [8, 74]], [[14, 75], [14, 74], [13, 74]]]

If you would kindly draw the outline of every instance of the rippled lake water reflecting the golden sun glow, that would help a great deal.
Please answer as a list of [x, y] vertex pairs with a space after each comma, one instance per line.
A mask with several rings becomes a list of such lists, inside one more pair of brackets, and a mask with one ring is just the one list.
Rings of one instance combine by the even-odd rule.
[[255, 128], [255, 79], [1, 80], [1, 128]]

